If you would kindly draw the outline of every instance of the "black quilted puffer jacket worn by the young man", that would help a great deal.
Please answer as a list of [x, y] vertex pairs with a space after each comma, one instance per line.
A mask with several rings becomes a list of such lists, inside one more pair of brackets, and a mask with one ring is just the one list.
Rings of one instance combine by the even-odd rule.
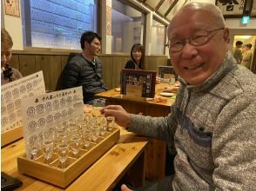
[[102, 63], [95, 58], [95, 65], [86, 60], [82, 54], [71, 58], [63, 71], [62, 89], [82, 86], [84, 103], [91, 102], [93, 95], [106, 91], [103, 81]]

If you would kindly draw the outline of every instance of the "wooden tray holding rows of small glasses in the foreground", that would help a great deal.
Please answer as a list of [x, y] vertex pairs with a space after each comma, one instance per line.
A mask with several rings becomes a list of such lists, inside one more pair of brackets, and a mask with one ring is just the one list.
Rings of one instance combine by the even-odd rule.
[[50, 164], [44, 162], [43, 155], [35, 160], [22, 155], [17, 157], [18, 172], [65, 188], [118, 142], [119, 136], [120, 129], [113, 128], [111, 132], [104, 134], [104, 137], [100, 137], [97, 143], [91, 144], [88, 150], [81, 149], [79, 157], [70, 156], [64, 169], [61, 168], [56, 154], [51, 157]]

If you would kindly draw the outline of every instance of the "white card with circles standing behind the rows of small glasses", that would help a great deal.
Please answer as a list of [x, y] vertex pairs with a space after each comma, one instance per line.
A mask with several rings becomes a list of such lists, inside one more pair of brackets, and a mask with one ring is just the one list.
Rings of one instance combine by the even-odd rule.
[[42, 138], [42, 131], [52, 130], [74, 117], [84, 115], [82, 87], [64, 89], [22, 99], [26, 155], [30, 158], [30, 142]]

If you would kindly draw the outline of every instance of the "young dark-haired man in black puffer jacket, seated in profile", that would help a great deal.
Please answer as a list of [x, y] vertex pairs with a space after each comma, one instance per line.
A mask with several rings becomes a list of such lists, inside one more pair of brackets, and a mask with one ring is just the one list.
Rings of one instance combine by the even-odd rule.
[[72, 57], [63, 71], [62, 89], [82, 86], [85, 104], [92, 104], [93, 95], [107, 90], [102, 63], [97, 57], [100, 40], [97, 33], [85, 31], [80, 39], [82, 53]]

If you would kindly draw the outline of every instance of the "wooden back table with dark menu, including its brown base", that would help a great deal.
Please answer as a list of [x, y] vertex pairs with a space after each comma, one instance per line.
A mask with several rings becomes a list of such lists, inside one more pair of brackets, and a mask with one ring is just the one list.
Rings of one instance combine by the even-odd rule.
[[[172, 87], [169, 83], [159, 83], [156, 85], [156, 96], [165, 87]], [[106, 104], [121, 105], [127, 112], [131, 114], [142, 113], [143, 115], [165, 116], [170, 113], [170, 106], [175, 101], [176, 96], [167, 97], [167, 102], [156, 102], [153, 99], [131, 99], [127, 98], [116, 89], [111, 89], [96, 95], [106, 99]], [[145, 177], [157, 181], [165, 176], [165, 158], [166, 158], [166, 142], [153, 139], [146, 149], [145, 155]]]

